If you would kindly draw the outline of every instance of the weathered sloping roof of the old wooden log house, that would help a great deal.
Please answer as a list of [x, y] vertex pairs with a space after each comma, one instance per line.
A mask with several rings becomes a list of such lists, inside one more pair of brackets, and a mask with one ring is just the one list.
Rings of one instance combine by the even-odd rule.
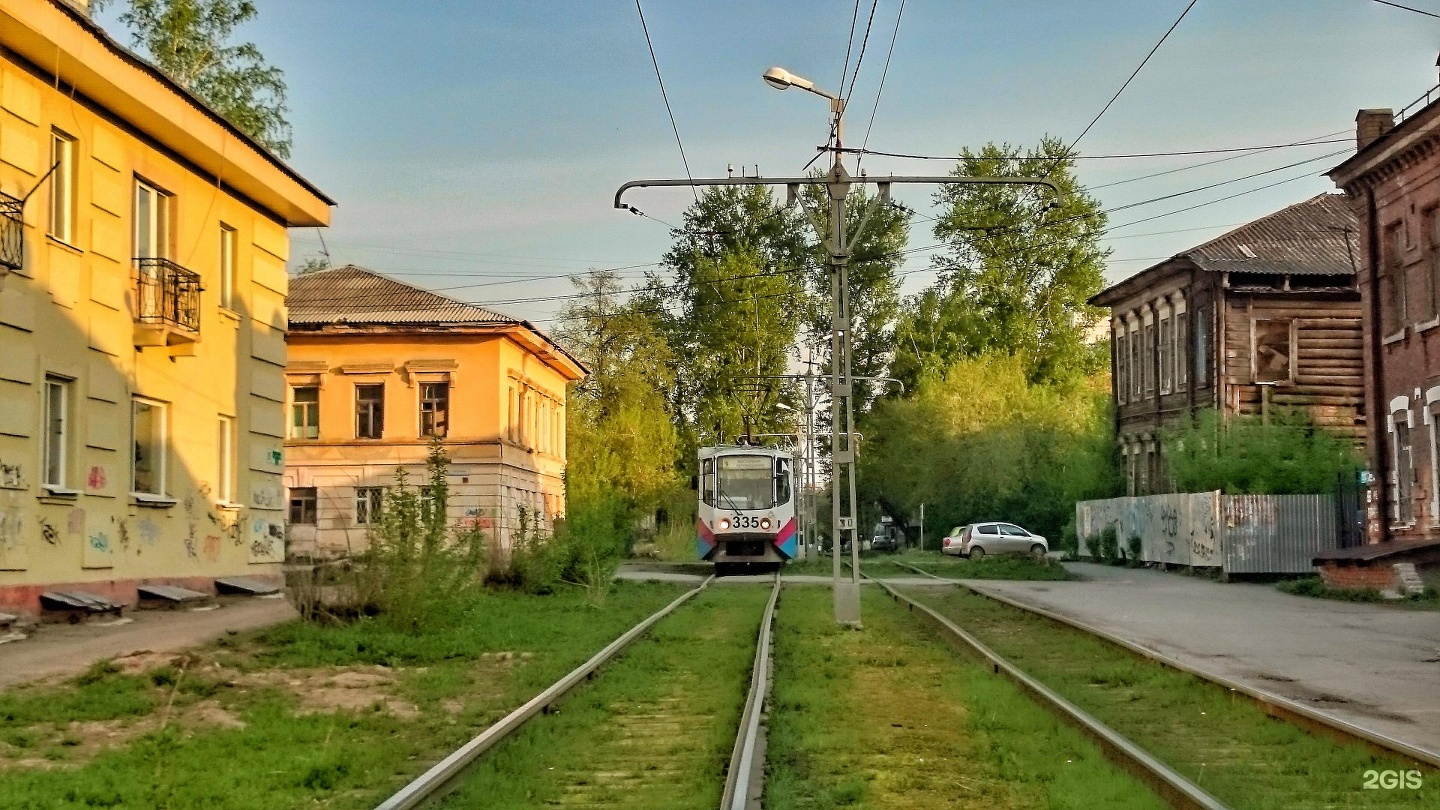
[[1351, 239], [1356, 228], [1345, 195], [1316, 195], [1151, 265], [1096, 294], [1090, 303], [1119, 303], [1174, 270], [1175, 262], [1210, 272], [1355, 275], [1358, 257]]

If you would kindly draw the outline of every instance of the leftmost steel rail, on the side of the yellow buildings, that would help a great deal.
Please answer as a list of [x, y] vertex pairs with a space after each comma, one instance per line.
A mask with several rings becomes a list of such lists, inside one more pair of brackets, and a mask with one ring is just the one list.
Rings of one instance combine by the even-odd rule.
[[697, 588], [685, 591], [675, 601], [660, 608], [648, 618], [642, 620], [635, 627], [625, 631], [624, 636], [611, 641], [599, 653], [590, 657], [590, 660], [570, 670], [569, 675], [556, 680], [544, 692], [536, 695], [528, 702], [526, 702], [518, 709], [510, 712], [498, 722], [480, 732], [478, 736], [456, 748], [449, 757], [441, 760], [431, 770], [425, 771], [416, 777], [410, 784], [402, 787], [397, 793], [386, 798], [376, 806], [376, 810], [409, 810], [410, 807], [418, 807], [420, 803], [435, 797], [441, 788], [448, 785], [461, 771], [469, 767], [481, 754], [495, 747], [497, 742], [510, 736], [518, 731], [527, 721], [536, 715], [547, 711], [553, 703], [563, 698], [567, 692], [579, 686], [582, 682], [595, 676], [595, 672], [600, 669], [606, 662], [618, 656], [625, 647], [634, 643], [636, 638], [645, 634], [657, 621], [670, 615], [675, 608], [683, 605], [687, 600], [704, 591], [714, 577], [706, 578]]

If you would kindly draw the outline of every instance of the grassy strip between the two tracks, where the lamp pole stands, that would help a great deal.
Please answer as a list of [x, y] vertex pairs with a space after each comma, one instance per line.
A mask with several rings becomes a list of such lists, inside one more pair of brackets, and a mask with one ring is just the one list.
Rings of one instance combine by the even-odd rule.
[[855, 631], [827, 589], [780, 598], [766, 809], [1164, 807], [883, 591], [863, 600]]

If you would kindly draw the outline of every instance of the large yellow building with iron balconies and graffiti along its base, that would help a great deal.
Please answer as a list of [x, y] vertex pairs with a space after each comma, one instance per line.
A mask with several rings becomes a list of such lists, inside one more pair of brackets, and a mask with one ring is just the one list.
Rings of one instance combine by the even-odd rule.
[[82, 9], [0, 0], [0, 611], [279, 579], [287, 228], [331, 205]]

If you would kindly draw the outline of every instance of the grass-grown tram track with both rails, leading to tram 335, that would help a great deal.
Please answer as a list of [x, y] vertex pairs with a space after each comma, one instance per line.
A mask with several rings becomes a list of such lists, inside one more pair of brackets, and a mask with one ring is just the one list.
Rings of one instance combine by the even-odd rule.
[[[759, 602], [752, 597], [759, 594], [753, 588], [716, 587], [714, 581], [707, 578], [638, 623], [585, 664], [390, 796], [377, 810], [528, 804], [517, 803], [513, 796], [494, 794], [487, 787], [501, 773], [504, 778], [500, 781], [514, 781], [510, 777], [517, 768], [528, 771], [530, 781], [539, 785], [531, 788], [536, 793], [528, 798], [541, 804], [634, 806], [625, 797], [634, 797], [638, 790], [655, 790], [665, 780], [677, 784], [694, 780], [698, 768], [711, 770], [716, 783], [723, 771], [723, 791], [716, 791], [723, 796], [723, 809], [759, 807], [763, 712], [770, 683], [770, 623], [780, 582], [776, 577], [756, 623], [759, 611], [755, 607]], [[701, 597], [703, 592], [710, 595]], [[687, 602], [691, 607], [681, 611]], [[670, 621], [664, 621], [667, 618]], [[749, 638], [756, 627], [755, 637]], [[647, 636], [652, 637], [648, 644], [636, 644]], [[736, 662], [734, 651], [740, 644], [753, 650], [753, 657], [746, 654], [746, 663]], [[721, 653], [730, 650], [724, 654], [727, 657], [706, 659], [706, 654], [719, 654], [714, 651], [717, 647]], [[667, 653], [671, 660], [664, 660]], [[635, 656], [639, 659], [635, 660]], [[716, 660], [730, 669], [716, 664]], [[600, 672], [606, 664], [611, 666]], [[708, 677], [714, 676], [720, 685], [744, 683], [746, 666], [750, 677], [743, 695], [739, 689], [733, 689], [733, 699], [713, 695], [720, 686]], [[626, 667], [638, 667], [644, 676], [636, 679], [635, 672], [625, 672]], [[704, 667], [719, 667], [720, 672]], [[611, 673], [612, 669], [615, 673]], [[732, 677], [724, 677], [726, 673]], [[582, 685], [589, 687], [579, 689]], [[704, 700], [687, 698], [697, 693], [711, 700], [708, 709]], [[717, 709], [740, 705], [742, 698], [739, 724], [732, 729], [736, 731], [733, 745], [726, 744], [730, 754], [727, 764], [716, 745], [716, 735], [721, 734], [714, 725], [716, 715], [729, 713]], [[721, 705], [714, 705], [716, 700]], [[540, 721], [560, 713], [569, 719], [549, 716]], [[504, 742], [510, 745], [501, 745]], [[583, 751], [582, 757], [563, 755], [563, 751], [576, 747]], [[675, 806], [714, 804], [696, 804], [696, 796], [691, 796], [688, 804], [681, 801]]]

